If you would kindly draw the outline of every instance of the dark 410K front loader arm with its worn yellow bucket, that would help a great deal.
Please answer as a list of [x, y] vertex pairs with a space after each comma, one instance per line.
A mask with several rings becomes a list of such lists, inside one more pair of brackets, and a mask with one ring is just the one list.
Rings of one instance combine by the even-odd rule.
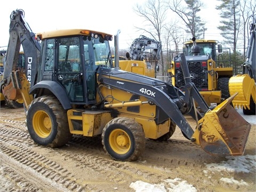
[[[181, 65], [186, 77], [185, 94], [169, 83], [157, 81], [137, 74], [121, 73], [117, 69], [99, 68], [98, 81], [109, 89], [119, 89], [130, 92], [148, 99], [147, 102], [133, 101], [134, 105], [156, 105], [160, 107], [172, 121], [179, 126], [183, 135], [190, 141], [201, 145], [205, 151], [211, 154], [241, 155], [245, 150], [245, 143], [250, 132], [251, 125], [243, 117], [229, 107], [229, 103], [234, 95], [222, 102], [216, 109], [211, 110], [207, 103], [197, 91], [195, 85], [191, 83], [189, 71], [186, 66], [186, 57], [181, 54]], [[130, 81], [133, 79], [133, 81]], [[205, 114], [198, 113], [195, 109], [194, 100]], [[106, 108], [115, 108], [124, 105], [123, 103], [105, 105]], [[132, 105], [132, 104], [131, 104]], [[190, 114], [198, 121], [196, 130], [188, 124], [184, 114]], [[228, 118], [234, 116], [234, 118]], [[210, 124], [215, 122], [215, 124]], [[218, 123], [217, 123], [218, 122]], [[235, 124], [237, 126], [235, 127]], [[228, 125], [234, 125], [230, 127]], [[236, 133], [241, 133], [241, 138], [236, 137]]]

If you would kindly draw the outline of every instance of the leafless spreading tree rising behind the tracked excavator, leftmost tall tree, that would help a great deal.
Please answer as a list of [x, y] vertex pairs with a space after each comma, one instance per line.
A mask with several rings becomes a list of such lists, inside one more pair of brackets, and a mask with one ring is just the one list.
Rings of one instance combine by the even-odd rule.
[[[164, 0], [148, 0], [145, 4], [137, 4], [133, 8], [134, 12], [140, 17], [145, 19], [143, 27], [135, 28], [143, 30], [150, 34], [156, 41], [161, 42], [161, 33], [165, 25], [167, 7], [164, 4]], [[157, 37], [157, 38], [156, 38]], [[163, 63], [163, 52], [161, 52], [161, 71], [164, 76], [164, 63]]]

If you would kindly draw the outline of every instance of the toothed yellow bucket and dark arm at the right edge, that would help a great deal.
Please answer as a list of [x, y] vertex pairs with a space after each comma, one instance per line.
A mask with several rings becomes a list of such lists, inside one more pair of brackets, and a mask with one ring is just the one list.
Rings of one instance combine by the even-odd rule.
[[256, 103], [256, 15], [252, 15], [250, 39], [246, 52], [246, 61], [242, 65], [242, 74], [229, 79], [229, 92], [238, 92], [232, 101], [234, 107], [243, 108], [245, 115], [255, 115]]

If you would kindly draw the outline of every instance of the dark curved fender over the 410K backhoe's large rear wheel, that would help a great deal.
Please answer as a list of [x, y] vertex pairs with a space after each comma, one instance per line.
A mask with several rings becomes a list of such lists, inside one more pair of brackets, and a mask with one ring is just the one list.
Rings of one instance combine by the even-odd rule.
[[70, 100], [66, 91], [57, 82], [41, 81], [31, 87], [29, 94], [38, 94], [41, 90], [49, 90], [60, 101], [63, 109], [71, 109]]

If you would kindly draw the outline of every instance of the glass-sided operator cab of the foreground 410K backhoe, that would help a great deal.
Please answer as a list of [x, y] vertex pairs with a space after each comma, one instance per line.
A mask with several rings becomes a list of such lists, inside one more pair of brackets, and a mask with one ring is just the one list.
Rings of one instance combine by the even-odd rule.
[[43, 75], [38, 79], [61, 84], [71, 104], [95, 104], [97, 70], [113, 68], [108, 42], [112, 37], [92, 31], [83, 34], [81, 30], [74, 30], [76, 35], [69, 35], [68, 30], [63, 33], [67, 35], [42, 39], [42, 61], [39, 62], [42, 69], [39, 70], [43, 73], [38, 76]]

